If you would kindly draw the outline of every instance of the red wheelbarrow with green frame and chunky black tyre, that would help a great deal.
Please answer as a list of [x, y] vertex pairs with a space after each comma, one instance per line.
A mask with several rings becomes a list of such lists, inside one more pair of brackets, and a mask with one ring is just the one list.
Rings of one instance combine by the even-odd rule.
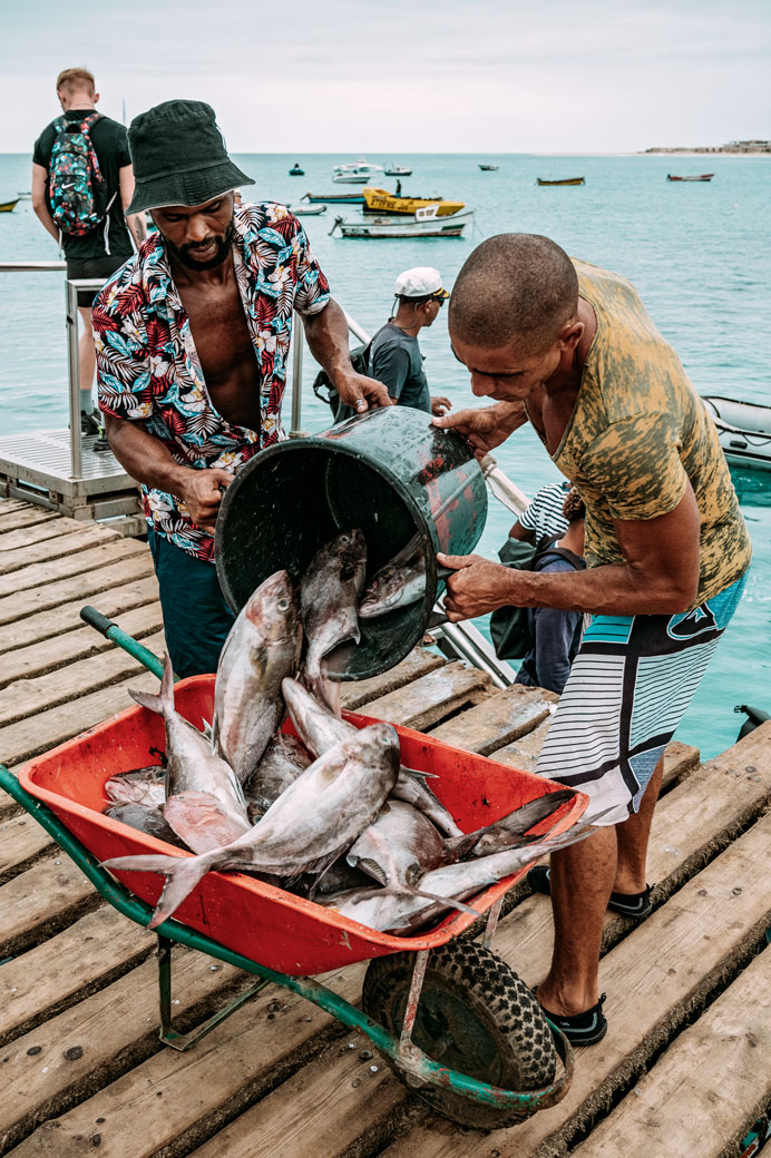
[[[92, 608], [81, 614], [161, 674], [158, 657], [116, 624]], [[175, 687], [177, 710], [201, 727], [211, 719], [213, 690], [213, 675], [182, 680]], [[371, 723], [357, 713], [344, 717], [357, 727]], [[291, 731], [291, 724], [285, 727]], [[397, 731], [402, 762], [434, 774], [431, 787], [465, 831], [563, 790], [553, 780], [410, 728]], [[99, 862], [141, 852], [189, 853], [104, 815], [109, 804], [104, 783], [117, 772], [153, 763], [151, 749], [163, 743], [162, 719], [133, 706], [26, 764], [19, 780], [0, 768], [0, 786], [43, 824], [106, 900], [140, 925], [151, 919], [162, 879], [123, 872], [115, 874], [123, 882], [117, 884]], [[562, 804], [544, 822], [548, 840], [575, 824], [587, 802], [576, 792]], [[503, 896], [524, 872], [473, 899], [474, 909], [487, 914], [481, 944], [463, 936], [475, 921], [467, 913], [451, 913], [419, 936], [395, 937], [252, 877], [211, 872], [180, 906], [175, 919], [158, 929], [161, 1040], [177, 1049], [190, 1048], [274, 982], [365, 1033], [398, 1076], [445, 1116], [481, 1129], [524, 1121], [559, 1101], [573, 1075], [570, 1046], [516, 973], [490, 950]], [[194, 1033], [181, 1035], [170, 1024], [175, 941], [262, 980]], [[313, 980], [313, 974], [365, 960], [370, 965], [361, 1010]]]

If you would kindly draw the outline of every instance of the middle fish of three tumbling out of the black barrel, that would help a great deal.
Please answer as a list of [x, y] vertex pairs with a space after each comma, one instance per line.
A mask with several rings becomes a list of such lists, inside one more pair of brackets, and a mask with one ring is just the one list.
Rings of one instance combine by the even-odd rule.
[[305, 681], [327, 701], [322, 660], [348, 640], [358, 643], [358, 600], [366, 572], [366, 543], [357, 528], [343, 530], [321, 547], [300, 582], [300, 610], [308, 640]]

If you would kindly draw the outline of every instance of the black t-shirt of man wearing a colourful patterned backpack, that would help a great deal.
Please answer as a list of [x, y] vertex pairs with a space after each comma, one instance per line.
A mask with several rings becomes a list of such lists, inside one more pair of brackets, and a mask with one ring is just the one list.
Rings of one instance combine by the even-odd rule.
[[[61, 115], [65, 116], [67, 120], [85, 120], [90, 111], [90, 109], [68, 109]], [[57, 120], [59, 118], [57, 117]], [[35, 164], [42, 166], [45, 170], [48, 170], [51, 162], [51, 149], [53, 148], [53, 141], [56, 140], [54, 124], [56, 122], [52, 120], [50, 125], [46, 125], [35, 141], [32, 161]], [[109, 201], [115, 193], [115, 199], [110, 205], [107, 215], [109, 225], [107, 230], [108, 240], [106, 243], [104, 221], [101, 221], [95, 229], [90, 233], [82, 234], [80, 237], [72, 236], [68, 233], [63, 233], [61, 244], [64, 247], [65, 255], [67, 257], [80, 258], [104, 257], [107, 255], [107, 245], [109, 244], [110, 254], [116, 257], [131, 257], [133, 254], [133, 245], [131, 244], [131, 235], [123, 215], [121, 178], [118, 176], [121, 169], [123, 169], [126, 164], [131, 164], [125, 126], [118, 124], [117, 120], [112, 120], [110, 117], [100, 117], [100, 119], [92, 125], [89, 135], [99, 159], [102, 176], [107, 182], [107, 200]], [[45, 185], [45, 196], [46, 198], [49, 197], [48, 182]]]

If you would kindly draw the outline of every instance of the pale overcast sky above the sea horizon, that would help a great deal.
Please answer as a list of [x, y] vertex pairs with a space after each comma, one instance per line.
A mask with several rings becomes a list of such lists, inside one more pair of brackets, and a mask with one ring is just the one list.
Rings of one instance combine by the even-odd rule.
[[770, 0], [0, 0], [0, 152], [85, 65], [209, 101], [235, 153], [614, 153], [771, 138]]

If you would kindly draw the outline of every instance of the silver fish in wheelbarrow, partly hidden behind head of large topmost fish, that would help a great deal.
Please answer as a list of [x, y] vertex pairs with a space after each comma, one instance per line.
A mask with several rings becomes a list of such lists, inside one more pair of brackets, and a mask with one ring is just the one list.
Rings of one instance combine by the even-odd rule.
[[[284, 680], [281, 689], [297, 734], [314, 756], [328, 752], [356, 732], [352, 724], [329, 712], [297, 680]], [[444, 805], [428, 789], [421, 772], [401, 764], [392, 794], [425, 813], [445, 836], [464, 835]]]

